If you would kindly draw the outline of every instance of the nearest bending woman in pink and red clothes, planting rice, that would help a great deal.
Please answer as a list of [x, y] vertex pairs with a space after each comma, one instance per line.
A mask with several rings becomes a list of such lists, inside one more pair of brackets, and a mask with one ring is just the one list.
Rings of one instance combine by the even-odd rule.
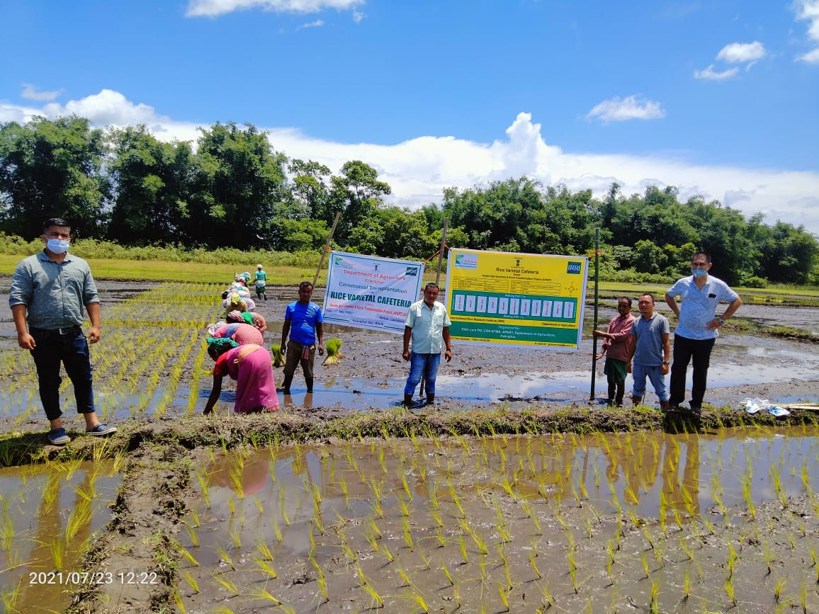
[[225, 375], [236, 380], [233, 413], [278, 411], [273, 360], [268, 350], [254, 343], [237, 345], [232, 339], [211, 337], [207, 340], [207, 353], [216, 363], [213, 388], [203, 413], [213, 412]]

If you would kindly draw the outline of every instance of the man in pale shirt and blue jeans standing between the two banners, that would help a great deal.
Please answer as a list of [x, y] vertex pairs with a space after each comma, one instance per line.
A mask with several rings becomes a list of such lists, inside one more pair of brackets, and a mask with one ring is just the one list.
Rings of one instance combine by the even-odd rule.
[[[409, 305], [409, 314], [404, 323], [404, 352], [401, 356], [409, 360], [409, 377], [404, 386], [404, 404], [412, 405], [415, 386], [423, 376], [427, 384], [427, 404], [435, 403], [435, 378], [441, 364], [441, 350], [446, 344], [446, 362], [452, 359], [450, 341], [450, 316], [446, 307], [437, 303], [438, 285], [428, 283], [423, 288], [423, 299]], [[409, 339], [412, 351], [409, 351]]]

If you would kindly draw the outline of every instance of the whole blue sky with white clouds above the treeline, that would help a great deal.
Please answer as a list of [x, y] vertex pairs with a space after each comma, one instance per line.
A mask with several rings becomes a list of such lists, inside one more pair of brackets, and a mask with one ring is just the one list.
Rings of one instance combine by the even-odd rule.
[[250, 122], [392, 199], [674, 185], [819, 233], [819, 0], [0, 0], [0, 121]]

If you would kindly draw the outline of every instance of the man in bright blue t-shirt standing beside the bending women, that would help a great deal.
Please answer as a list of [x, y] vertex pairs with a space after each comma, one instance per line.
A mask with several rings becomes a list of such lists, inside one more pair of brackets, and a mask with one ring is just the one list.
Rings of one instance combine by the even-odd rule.
[[[299, 363], [301, 363], [301, 369], [305, 374], [307, 392], [313, 391], [316, 340], [319, 341], [319, 355], [324, 355], [324, 332], [322, 332], [321, 324], [324, 318], [321, 314], [321, 307], [310, 302], [312, 296], [313, 284], [301, 282], [299, 284], [299, 300], [287, 305], [284, 312], [282, 351], [284, 352], [285, 347], [287, 347], [287, 354], [284, 359], [282, 391], [285, 395], [290, 394], [290, 384]], [[290, 335], [290, 341], [287, 341], [288, 334]]]

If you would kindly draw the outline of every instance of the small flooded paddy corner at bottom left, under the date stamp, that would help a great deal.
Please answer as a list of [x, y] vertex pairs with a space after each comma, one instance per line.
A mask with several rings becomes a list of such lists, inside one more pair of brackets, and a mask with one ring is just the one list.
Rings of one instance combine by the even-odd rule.
[[[62, 612], [69, 592], [100, 581], [79, 557], [111, 518], [115, 461], [0, 469], [0, 598], [4, 612]], [[115, 579], [111, 579], [115, 581]]]

